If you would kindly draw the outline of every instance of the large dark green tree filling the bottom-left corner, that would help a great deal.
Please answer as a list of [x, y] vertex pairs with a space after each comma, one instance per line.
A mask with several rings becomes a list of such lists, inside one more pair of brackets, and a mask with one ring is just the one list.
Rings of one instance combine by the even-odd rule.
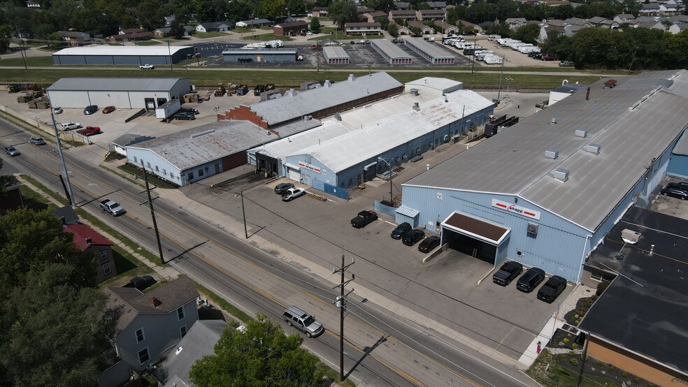
[[43, 263], [0, 300], [0, 385], [94, 386], [106, 300], [66, 280], [73, 270]]

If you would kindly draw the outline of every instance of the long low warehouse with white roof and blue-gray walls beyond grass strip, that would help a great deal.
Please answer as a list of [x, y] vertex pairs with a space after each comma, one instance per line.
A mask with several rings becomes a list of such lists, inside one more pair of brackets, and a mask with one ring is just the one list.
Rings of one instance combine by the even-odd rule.
[[171, 46], [122, 46], [122, 45], [86, 45], [59, 50], [52, 54], [54, 64], [97, 64], [97, 65], [140, 65], [175, 64], [189, 55], [194, 48], [189, 45]]

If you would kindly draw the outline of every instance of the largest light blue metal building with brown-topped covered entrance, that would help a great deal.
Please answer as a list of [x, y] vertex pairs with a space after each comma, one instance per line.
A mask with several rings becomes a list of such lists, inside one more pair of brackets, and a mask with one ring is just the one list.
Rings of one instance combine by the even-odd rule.
[[403, 184], [396, 221], [495, 266], [509, 258], [580, 282], [624, 212], [650, 202], [688, 124], [688, 71], [604, 81]]

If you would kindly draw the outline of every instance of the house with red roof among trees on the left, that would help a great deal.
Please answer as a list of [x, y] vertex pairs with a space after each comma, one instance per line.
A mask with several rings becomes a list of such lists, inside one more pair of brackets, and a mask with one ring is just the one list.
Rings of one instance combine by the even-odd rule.
[[117, 275], [113, 242], [85, 224], [65, 224], [62, 228], [66, 233], [72, 233], [72, 242], [84, 254], [96, 258], [96, 284]]

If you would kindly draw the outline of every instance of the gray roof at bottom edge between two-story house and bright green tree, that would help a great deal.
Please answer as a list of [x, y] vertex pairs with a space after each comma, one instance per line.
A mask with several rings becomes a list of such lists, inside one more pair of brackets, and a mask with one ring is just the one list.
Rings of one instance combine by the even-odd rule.
[[215, 353], [215, 344], [220, 340], [225, 329], [227, 329], [227, 323], [222, 320], [196, 321], [177, 344], [177, 349], [152, 371], [159, 383], [158, 386], [192, 386], [189, 380], [192, 365], [203, 356]]

